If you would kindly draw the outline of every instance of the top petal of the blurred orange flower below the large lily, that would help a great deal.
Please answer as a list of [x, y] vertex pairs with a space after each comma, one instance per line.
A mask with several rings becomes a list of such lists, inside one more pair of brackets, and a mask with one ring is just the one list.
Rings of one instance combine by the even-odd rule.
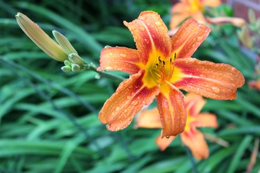
[[206, 100], [202, 98], [202, 96], [188, 93], [185, 95], [185, 107], [187, 111], [189, 111], [190, 116], [196, 116], [200, 113], [202, 107], [206, 104]]

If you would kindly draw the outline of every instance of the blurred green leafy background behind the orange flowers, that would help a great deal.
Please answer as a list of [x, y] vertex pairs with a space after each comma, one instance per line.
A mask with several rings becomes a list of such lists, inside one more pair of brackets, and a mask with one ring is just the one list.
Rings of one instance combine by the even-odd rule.
[[[229, 24], [212, 26], [211, 34], [193, 55], [200, 60], [224, 62], [245, 76], [245, 85], [232, 101], [207, 99], [202, 109], [216, 113], [218, 129], [200, 129], [210, 156], [189, 157], [177, 137], [160, 152], [155, 138], [160, 129], [107, 131], [98, 111], [119, 81], [96, 79], [96, 73], [63, 73], [62, 63], [44, 54], [17, 25], [22, 12], [51, 35], [64, 34], [86, 62], [98, 66], [106, 46], [135, 48], [123, 21], [143, 10], [159, 12], [168, 26], [170, 1], [107, 0], [0, 1], [0, 172], [245, 172], [254, 141], [260, 135], [259, 91], [248, 87], [255, 80], [257, 55], [239, 44]], [[212, 14], [232, 16], [222, 6]], [[209, 14], [210, 15], [210, 14]], [[128, 74], [111, 72], [128, 78]], [[151, 106], [154, 107], [155, 103]], [[229, 145], [220, 146], [214, 138]], [[260, 154], [252, 172], [260, 169]], [[193, 163], [193, 161], [195, 163]]]

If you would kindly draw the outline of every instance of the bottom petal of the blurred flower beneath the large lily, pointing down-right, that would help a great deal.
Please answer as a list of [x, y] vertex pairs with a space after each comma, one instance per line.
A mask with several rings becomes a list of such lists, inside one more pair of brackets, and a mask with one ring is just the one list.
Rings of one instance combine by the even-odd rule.
[[209, 157], [209, 147], [200, 131], [195, 130], [189, 134], [183, 133], [180, 135], [180, 138], [182, 143], [191, 149], [191, 153], [198, 160]]

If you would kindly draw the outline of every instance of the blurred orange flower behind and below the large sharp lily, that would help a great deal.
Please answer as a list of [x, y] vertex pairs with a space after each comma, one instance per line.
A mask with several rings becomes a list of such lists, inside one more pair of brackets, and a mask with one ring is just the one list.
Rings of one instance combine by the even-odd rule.
[[[206, 101], [196, 94], [189, 93], [184, 99], [187, 111], [187, 125], [184, 132], [180, 134], [180, 139], [184, 145], [187, 145], [194, 157], [198, 160], [209, 156], [209, 148], [203, 134], [196, 127], [218, 127], [216, 116], [212, 113], [200, 113]], [[137, 119], [137, 127], [144, 128], [162, 128], [159, 120], [159, 111], [155, 109], [141, 111]], [[175, 136], [170, 138], [161, 138], [158, 136], [156, 144], [162, 151], [171, 144]]]

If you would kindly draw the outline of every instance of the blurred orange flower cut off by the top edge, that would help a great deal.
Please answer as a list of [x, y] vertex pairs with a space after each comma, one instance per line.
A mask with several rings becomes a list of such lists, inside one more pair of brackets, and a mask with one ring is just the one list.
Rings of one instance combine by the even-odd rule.
[[220, 0], [180, 0], [171, 8], [171, 24], [173, 30], [179, 26], [182, 21], [189, 17], [193, 17], [199, 23], [205, 24], [203, 12], [205, 6], [216, 7], [221, 4]]

